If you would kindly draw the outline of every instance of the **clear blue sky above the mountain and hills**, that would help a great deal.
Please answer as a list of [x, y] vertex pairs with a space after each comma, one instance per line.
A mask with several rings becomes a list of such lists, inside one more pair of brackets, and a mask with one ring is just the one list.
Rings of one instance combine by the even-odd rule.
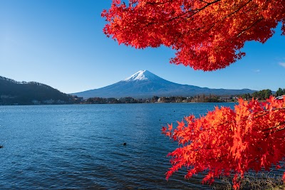
[[63, 93], [101, 88], [150, 70], [175, 83], [208, 88], [285, 88], [285, 36], [281, 27], [264, 44], [246, 43], [247, 56], [223, 70], [172, 65], [169, 48], [118, 46], [100, 17], [111, 0], [1, 0], [0, 75], [37, 81]]

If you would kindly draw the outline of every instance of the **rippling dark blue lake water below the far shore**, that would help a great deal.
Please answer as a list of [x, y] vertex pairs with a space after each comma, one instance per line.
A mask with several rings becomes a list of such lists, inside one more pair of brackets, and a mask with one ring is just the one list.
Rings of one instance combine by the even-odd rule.
[[0, 189], [212, 189], [185, 172], [165, 180], [177, 144], [161, 128], [214, 105], [1, 106]]

